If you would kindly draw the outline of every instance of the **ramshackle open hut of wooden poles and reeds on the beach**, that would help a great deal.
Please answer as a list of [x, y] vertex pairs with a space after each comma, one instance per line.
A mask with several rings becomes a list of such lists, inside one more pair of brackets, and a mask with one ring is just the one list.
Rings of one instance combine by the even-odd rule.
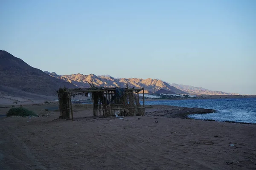
[[[140, 105], [139, 92], [143, 91], [143, 106]], [[58, 93], [60, 117], [73, 120], [71, 97], [91, 94], [93, 116], [143, 116], [145, 114], [144, 88], [60, 88]]]

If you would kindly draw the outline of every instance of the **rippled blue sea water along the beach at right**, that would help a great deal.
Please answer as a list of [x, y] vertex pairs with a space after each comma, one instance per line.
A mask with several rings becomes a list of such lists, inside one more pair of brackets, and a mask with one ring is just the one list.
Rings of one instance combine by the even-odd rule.
[[222, 122], [256, 123], [256, 98], [153, 100], [145, 101], [145, 105], [172, 105], [187, 108], [214, 109], [217, 112], [192, 114], [189, 117], [193, 119], [212, 119]]

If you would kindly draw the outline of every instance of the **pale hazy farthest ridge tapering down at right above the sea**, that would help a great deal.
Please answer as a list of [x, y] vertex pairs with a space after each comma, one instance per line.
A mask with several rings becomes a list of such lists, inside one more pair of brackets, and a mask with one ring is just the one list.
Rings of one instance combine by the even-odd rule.
[[226, 92], [223, 92], [223, 91], [211, 91], [211, 90], [208, 90], [208, 89], [205, 89], [205, 88], [202, 88], [202, 87], [194, 87], [194, 86], [191, 86], [191, 85], [178, 85], [178, 84], [175, 84], [175, 83], [172, 83], [172, 84], [168, 83], [168, 84], [174, 86], [177, 89], [185, 91], [189, 94], [239, 95], [239, 94], [236, 94], [236, 93], [226, 93]]

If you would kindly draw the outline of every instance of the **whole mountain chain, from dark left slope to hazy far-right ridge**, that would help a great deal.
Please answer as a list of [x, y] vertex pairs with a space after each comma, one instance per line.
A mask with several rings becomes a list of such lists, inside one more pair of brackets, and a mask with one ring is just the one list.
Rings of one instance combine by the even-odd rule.
[[96, 76], [94, 74], [58, 75], [55, 72], [41, 71], [33, 68], [22, 59], [0, 50], [0, 85], [16, 88], [35, 94], [55, 95], [60, 87], [87, 88], [89, 82], [102, 87], [121, 87], [126, 84], [130, 88], [145, 88], [145, 93], [151, 94], [158, 90], [170, 91], [173, 94], [210, 94], [234, 95], [221, 91], [210, 91], [201, 87], [170, 84], [159, 79], [114, 78], [110, 75]]

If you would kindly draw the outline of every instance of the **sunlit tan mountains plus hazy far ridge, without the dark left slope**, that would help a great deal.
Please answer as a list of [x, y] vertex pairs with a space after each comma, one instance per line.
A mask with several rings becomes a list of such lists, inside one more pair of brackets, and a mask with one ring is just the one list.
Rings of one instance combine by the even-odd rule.
[[178, 85], [170, 84], [159, 79], [136, 79], [136, 78], [114, 78], [110, 75], [96, 76], [94, 74], [84, 75], [84, 74], [71, 74], [71, 75], [58, 75], [55, 72], [49, 73], [45, 71], [52, 77], [57, 79], [62, 79], [64, 81], [70, 82], [77, 87], [87, 88], [90, 87], [88, 82], [93, 82], [97, 86], [104, 87], [126, 87], [128, 83], [129, 87], [145, 88], [145, 92], [148, 94], [154, 93], [160, 89], [171, 91], [174, 94], [208, 94], [208, 95], [239, 95], [235, 93], [226, 93], [222, 91], [210, 91], [202, 87], [194, 87], [191, 85]]

